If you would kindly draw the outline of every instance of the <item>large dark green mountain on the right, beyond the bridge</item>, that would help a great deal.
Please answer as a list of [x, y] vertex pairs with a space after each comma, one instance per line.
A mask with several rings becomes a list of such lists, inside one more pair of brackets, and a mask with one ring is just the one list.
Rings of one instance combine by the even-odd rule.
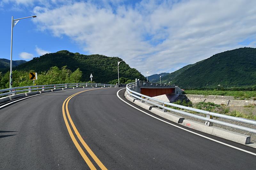
[[181, 88], [256, 85], [256, 48], [239, 48], [215, 54], [164, 76], [162, 83]]

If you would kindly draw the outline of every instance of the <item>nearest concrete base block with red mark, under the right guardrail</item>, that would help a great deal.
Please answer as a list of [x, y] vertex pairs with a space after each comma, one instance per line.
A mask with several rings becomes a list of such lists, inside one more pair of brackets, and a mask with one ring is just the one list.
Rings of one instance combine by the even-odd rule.
[[221, 137], [224, 139], [228, 139], [240, 144], [250, 144], [251, 137], [247, 135], [243, 135], [240, 133], [232, 132], [226, 129], [221, 129], [215, 126], [205, 126], [204, 123], [196, 122], [192, 120], [184, 120], [182, 123], [183, 126], [186, 126], [191, 129], [195, 129], [204, 133], [208, 133], [213, 136]]

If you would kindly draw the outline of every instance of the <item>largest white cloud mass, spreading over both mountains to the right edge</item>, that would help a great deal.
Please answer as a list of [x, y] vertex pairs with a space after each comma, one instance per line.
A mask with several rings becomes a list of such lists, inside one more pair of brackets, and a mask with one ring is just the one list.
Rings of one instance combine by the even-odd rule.
[[[141, 1], [132, 7], [116, 1], [115, 9], [105, 1], [37, 6], [33, 22], [91, 54], [121, 57], [144, 75], [172, 72], [256, 38], [256, 1], [177, 2]], [[249, 45], [256, 47], [255, 41]]]

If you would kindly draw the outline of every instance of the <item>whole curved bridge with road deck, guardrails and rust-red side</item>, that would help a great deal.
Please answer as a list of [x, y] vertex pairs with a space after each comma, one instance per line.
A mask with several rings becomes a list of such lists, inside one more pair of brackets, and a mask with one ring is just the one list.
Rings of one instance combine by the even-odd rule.
[[[154, 98], [177, 95], [179, 87], [139, 80], [117, 86], [83, 83], [0, 90], [0, 96], [6, 96], [0, 98], [0, 169], [255, 169], [256, 149], [248, 136], [220, 137], [203, 130], [221, 124], [212, 116], [222, 115]], [[189, 120], [175, 113], [196, 116], [205, 124], [202, 128], [192, 121], [191, 128], [184, 124]], [[230, 137], [231, 132], [225, 134]]]

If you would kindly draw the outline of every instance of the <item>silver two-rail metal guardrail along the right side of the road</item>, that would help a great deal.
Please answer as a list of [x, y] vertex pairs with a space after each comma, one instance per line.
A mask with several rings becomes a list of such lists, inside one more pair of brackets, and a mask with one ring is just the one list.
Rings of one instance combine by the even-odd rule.
[[[244, 131], [252, 132], [252, 133], [256, 134], [256, 129], [247, 128], [247, 127], [235, 125], [235, 124], [232, 124], [232, 123], [227, 123], [227, 122], [214, 120], [214, 119], [212, 119], [212, 116], [220, 117], [220, 118], [224, 118], [224, 119], [228, 119], [228, 120], [233, 120], [233, 121], [237, 121], [237, 122], [248, 123], [248, 124], [251, 124], [251, 125], [256, 125], [256, 121], [244, 119], [244, 118], [241, 118], [241, 117], [233, 117], [233, 116], [228, 116], [228, 115], [222, 115], [222, 114], [219, 114], [219, 113], [209, 112], [209, 111], [200, 110], [200, 109], [196, 109], [196, 108], [192, 108], [192, 107], [181, 106], [181, 105], [177, 105], [177, 104], [173, 104], [173, 103], [169, 103], [169, 102], [164, 102], [164, 101], [161, 101], [161, 100], [158, 100], [158, 99], [140, 94], [138, 92], [132, 91], [131, 89], [134, 88], [135, 86], [137, 86], [136, 82], [126, 85], [126, 91], [129, 95], [141, 100], [142, 102], [147, 102], [147, 103], [150, 103], [154, 106], [160, 107], [160, 108], [163, 109], [163, 111], [170, 110], [172, 112], [176, 112], [176, 113], [180, 113], [180, 114], [183, 114], [183, 115], [194, 117], [194, 118], [197, 118], [197, 119], [200, 119], [200, 120], [204, 120], [204, 121], [206, 121], [205, 122], [206, 126], [212, 126], [212, 123], [216, 123], [216, 124], [219, 124], [219, 125], [223, 125], [223, 126], [227, 126], [227, 127], [231, 127], [231, 128], [235, 128], [235, 129], [240, 129], [240, 130], [244, 130]], [[146, 100], [145, 98], [153, 100], [153, 101]], [[156, 102], [158, 102], [158, 103], [156, 103]], [[189, 110], [189, 111], [202, 113], [202, 114], [205, 114], [206, 117], [191, 114], [191, 113], [181, 111], [181, 110], [176, 110], [176, 109], [169, 108], [169, 107], [166, 107], [166, 106], [178, 107], [178, 108], [186, 109], [186, 110]]]

